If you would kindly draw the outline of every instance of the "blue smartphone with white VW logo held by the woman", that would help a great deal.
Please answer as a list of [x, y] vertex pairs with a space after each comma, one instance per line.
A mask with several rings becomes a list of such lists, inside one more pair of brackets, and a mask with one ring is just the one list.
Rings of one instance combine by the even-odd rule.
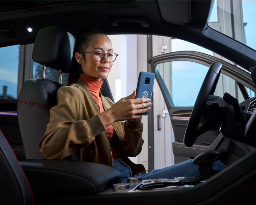
[[[135, 98], [149, 98], [151, 99], [153, 86], [154, 86], [155, 74], [149, 72], [140, 72]], [[144, 107], [147, 108], [147, 107]], [[143, 109], [143, 108], [140, 108]], [[137, 115], [147, 115], [148, 112], [137, 114]]]

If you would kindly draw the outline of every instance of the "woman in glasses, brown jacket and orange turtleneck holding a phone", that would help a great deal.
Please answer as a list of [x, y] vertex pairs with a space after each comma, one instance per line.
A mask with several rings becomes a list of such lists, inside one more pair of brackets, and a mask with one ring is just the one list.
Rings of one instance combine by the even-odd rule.
[[[140, 154], [144, 142], [142, 116], [136, 114], [150, 111], [152, 103], [148, 98], [134, 99], [136, 91], [115, 104], [101, 95], [101, 79], [108, 77], [116, 57], [105, 33], [92, 29], [78, 36], [68, 86], [57, 92], [57, 106], [50, 110], [39, 151], [45, 159], [62, 159], [79, 150], [80, 161], [114, 167], [124, 181], [131, 176], [152, 179], [199, 174], [191, 160], [146, 173], [142, 164], [128, 158]], [[214, 170], [224, 168], [221, 162], [213, 163]]]

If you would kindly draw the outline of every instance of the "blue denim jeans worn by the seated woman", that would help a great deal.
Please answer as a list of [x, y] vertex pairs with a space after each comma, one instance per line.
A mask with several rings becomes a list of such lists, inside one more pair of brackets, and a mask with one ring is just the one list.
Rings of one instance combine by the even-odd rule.
[[[132, 177], [131, 168], [120, 158], [113, 160], [113, 167], [118, 170], [122, 176], [123, 181], [127, 181], [128, 177]], [[219, 160], [212, 163], [213, 170], [224, 170], [226, 167]], [[179, 164], [172, 165], [159, 170], [153, 170], [146, 174], [138, 174], [133, 176], [141, 176], [142, 179], [157, 179], [170, 177], [194, 177], [199, 174], [198, 165], [193, 164], [193, 159]]]

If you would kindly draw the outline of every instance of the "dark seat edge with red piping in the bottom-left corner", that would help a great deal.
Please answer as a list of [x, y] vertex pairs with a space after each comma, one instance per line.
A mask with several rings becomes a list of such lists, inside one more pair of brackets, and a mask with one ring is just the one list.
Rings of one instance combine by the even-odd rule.
[[2, 205], [31, 205], [33, 204], [33, 194], [28, 179], [2, 131], [0, 135], [0, 203]]

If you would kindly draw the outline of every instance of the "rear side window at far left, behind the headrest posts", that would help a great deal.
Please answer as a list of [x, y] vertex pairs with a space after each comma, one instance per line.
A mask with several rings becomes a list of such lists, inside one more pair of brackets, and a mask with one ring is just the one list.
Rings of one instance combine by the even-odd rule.
[[[42, 78], [44, 66], [32, 60], [32, 51], [33, 44], [0, 48], [1, 99], [17, 99], [20, 89], [27, 79]], [[59, 76], [60, 71], [51, 68], [46, 69], [45, 78], [59, 82]], [[62, 84], [67, 85], [67, 82], [68, 74], [62, 73]]]

